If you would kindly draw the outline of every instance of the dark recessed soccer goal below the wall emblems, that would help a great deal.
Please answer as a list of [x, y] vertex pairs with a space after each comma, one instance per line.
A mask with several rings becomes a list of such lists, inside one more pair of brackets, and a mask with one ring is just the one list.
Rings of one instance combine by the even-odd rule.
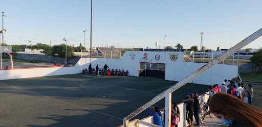
[[139, 77], [153, 77], [165, 79], [164, 63], [139, 62]]

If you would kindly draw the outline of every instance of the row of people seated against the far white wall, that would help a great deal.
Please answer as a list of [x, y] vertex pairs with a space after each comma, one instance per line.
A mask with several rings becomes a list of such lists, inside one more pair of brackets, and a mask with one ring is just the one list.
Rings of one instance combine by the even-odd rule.
[[[99, 70], [98, 70], [98, 74], [100, 74], [100, 73], [103, 73], [104, 72], [104, 68], [99, 68]], [[87, 74], [87, 73], [89, 73], [89, 70], [87, 69], [87, 68], [85, 68], [85, 69], [83, 69], [82, 70], [82, 73], [84, 73], [84, 74]], [[96, 70], [94, 69], [94, 68], [92, 68], [92, 70], [91, 70], [91, 73], [97, 73], [96, 72]], [[116, 70], [114, 70], [114, 69], [112, 69], [112, 70], [110, 70], [110, 69], [107, 69], [107, 71], [106, 71], [106, 75], [128, 75], [128, 70], [126, 70], [126, 71], [124, 71], [123, 69], [122, 69], [122, 71], [119, 69], [116, 69]]]

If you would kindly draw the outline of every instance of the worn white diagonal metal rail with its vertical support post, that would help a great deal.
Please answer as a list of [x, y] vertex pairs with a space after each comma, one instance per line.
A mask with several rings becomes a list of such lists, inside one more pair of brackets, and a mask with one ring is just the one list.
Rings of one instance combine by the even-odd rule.
[[123, 126], [124, 127], [128, 126], [129, 119], [135, 117], [136, 115], [138, 115], [139, 113], [141, 113], [145, 109], [149, 108], [151, 105], [157, 103], [159, 100], [161, 100], [164, 97], [165, 97], [165, 109], [166, 109], [165, 110], [165, 116], [166, 116], [165, 117], [165, 123], [168, 123], [168, 124], [165, 124], [165, 127], [170, 126], [169, 123], [171, 122], [171, 111], [170, 111], [170, 109], [171, 109], [171, 105], [170, 105], [171, 104], [171, 93], [173, 91], [176, 91], [178, 88], [182, 87], [183, 85], [185, 85], [189, 81], [193, 80], [194, 78], [197, 78], [200, 74], [204, 73], [208, 69], [212, 68], [214, 65], [220, 63], [221, 61], [223, 61], [227, 57], [231, 56], [232, 54], [237, 52], [237, 50], [243, 48], [244, 46], [246, 46], [247, 44], [251, 43], [252, 41], [257, 39], [261, 35], [262, 35], [262, 28], [259, 29], [258, 31], [256, 31], [255, 33], [253, 33], [252, 35], [250, 35], [249, 37], [247, 37], [246, 39], [244, 39], [241, 42], [237, 43], [236, 45], [234, 45], [230, 49], [228, 49], [225, 53], [221, 54], [219, 57], [213, 59], [211, 62], [208, 62], [206, 65], [202, 66], [197, 71], [189, 74], [186, 78], [184, 78], [183, 80], [181, 80], [177, 84], [173, 85], [172, 87], [168, 88], [167, 90], [165, 90], [164, 92], [160, 93], [156, 97], [152, 98], [150, 101], [148, 101], [146, 104], [144, 104], [143, 106], [138, 108], [136, 111], [134, 111], [134, 112], [130, 113], [129, 115], [127, 115], [123, 119]]

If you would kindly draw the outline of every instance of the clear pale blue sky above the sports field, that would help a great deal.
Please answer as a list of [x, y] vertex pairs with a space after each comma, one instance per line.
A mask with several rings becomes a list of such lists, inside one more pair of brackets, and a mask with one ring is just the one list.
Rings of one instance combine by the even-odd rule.
[[[261, 5], [260, 0], [93, 0], [92, 47], [156, 48], [156, 42], [160, 48], [178, 43], [200, 47], [204, 32], [206, 48], [230, 48], [262, 28]], [[30, 44], [30, 40], [58, 45], [65, 38], [68, 45], [85, 43], [90, 48], [91, 0], [8, 0], [1, 1], [0, 11], [7, 16], [7, 44]], [[259, 47], [262, 37], [244, 48]]]

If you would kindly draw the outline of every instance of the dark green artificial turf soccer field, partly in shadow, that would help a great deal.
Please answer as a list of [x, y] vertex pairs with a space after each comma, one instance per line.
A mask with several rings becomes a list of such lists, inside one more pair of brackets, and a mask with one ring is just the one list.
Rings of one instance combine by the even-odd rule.
[[[118, 126], [123, 118], [176, 82], [145, 77], [70, 74], [0, 81], [0, 126]], [[172, 93], [181, 103], [206, 85], [186, 84]], [[164, 99], [153, 106], [163, 108]], [[148, 116], [144, 111], [133, 119]]]

